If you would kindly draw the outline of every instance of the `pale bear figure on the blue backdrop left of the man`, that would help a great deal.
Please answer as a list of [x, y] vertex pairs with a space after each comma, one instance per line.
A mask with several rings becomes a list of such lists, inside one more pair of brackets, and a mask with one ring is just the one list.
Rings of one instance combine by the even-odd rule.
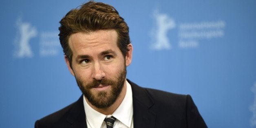
[[15, 46], [17, 50], [14, 53], [15, 57], [32, 57], [33, 52], [29, 45], [29, 40], [37, 36], [38, 32], [35, 26], [32, 26], [28, 22], [22, 22], [21, 18], [18, 18], [16, 25], [18, 26], [18, 34], [15, 37]]

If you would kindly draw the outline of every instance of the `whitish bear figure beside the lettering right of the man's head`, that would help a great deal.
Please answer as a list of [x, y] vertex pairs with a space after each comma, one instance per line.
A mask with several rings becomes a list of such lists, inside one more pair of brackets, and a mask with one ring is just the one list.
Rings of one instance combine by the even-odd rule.
[[167, 32], [174, 29], [176, 24], [172, 18], [167, 14], [159, 13], [157, 10], [153, 13], [157, 28], [152, 31], [153, 44], [151, 46], [154, 50], [171, 49]]

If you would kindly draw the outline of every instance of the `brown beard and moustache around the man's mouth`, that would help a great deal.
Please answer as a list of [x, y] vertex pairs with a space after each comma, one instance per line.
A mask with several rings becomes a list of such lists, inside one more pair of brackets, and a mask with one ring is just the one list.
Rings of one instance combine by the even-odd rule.
[[[121, 90], [124, 87], [124, 81], [126, 79], [126, 66], [121, 70], [114, 78], [103, 78], [101, 80], [93, 79], [92, 82], [86, 83], [82, 79], [75, 77], [77, 85], [88, 99], [90, 104], [97, 108], [108, 108], [115, 103], [117, 97], [119, 97]], [[102, 85], [110, 85], [110, 91], [92, 91], [93, 88]]]

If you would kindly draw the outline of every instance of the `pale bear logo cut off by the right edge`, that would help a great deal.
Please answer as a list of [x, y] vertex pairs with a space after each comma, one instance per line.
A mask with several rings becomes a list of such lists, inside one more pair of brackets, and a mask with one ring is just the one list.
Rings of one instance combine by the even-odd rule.
[[249, 107], [249, 110], [252, 111], [250, 124], [253, 127], [253, 126], [256, 126], [256, 83], [254, 83], [254, 86], [252, 87], [251, 90], [254, 93], [254, 102], [253, 102], [253, 105]]

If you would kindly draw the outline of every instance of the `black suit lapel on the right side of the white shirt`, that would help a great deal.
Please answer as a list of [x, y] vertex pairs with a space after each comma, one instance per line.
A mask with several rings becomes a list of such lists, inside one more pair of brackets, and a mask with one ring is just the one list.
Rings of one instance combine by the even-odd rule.
[[133, 126], [134, 128], [154, 128], [156, 114], [150, 110], [154, 105], [148, 92], [127, 80], [132, 87]]

